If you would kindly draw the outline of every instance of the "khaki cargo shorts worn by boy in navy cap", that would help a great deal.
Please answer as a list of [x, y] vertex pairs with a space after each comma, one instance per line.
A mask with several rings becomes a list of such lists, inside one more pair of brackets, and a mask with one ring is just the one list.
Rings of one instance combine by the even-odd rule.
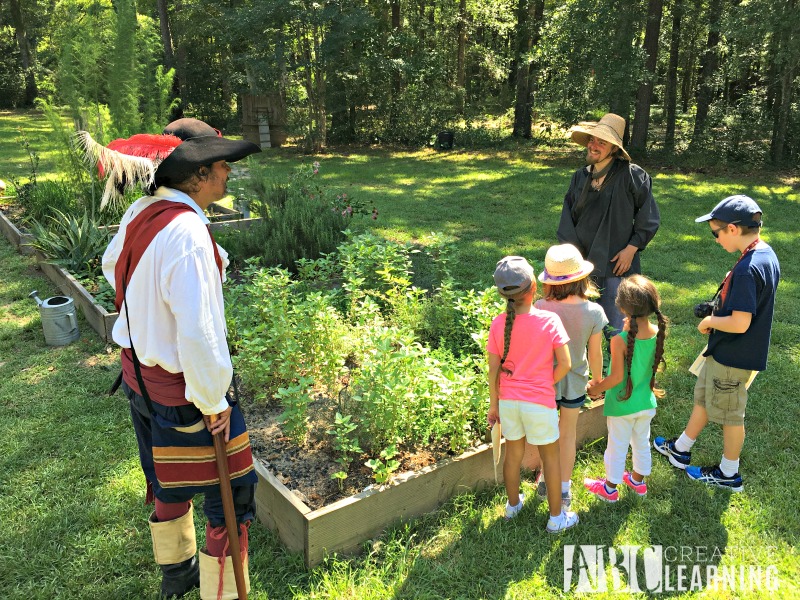
[[708, 420], [720, 425], [744, 425], [747, 381], [752, 371], [719, 364], [707, 356], [694, 386], [694, 403], [706, 409]]

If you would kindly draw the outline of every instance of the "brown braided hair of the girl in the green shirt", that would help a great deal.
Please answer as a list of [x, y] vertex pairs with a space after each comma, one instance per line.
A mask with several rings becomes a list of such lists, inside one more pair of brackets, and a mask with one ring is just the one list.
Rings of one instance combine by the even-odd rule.
[[628, 319], [628, 346], [625, 356], [625, 367], [628, 380], [625, 384], [625, 392], [619, 396], [620, 400], [627, 400], [633, 392], [633, 382], [631, 381], [631, 363], [633, 361], [633, 349], [636, 342], [636, 334], [639, 331], [639, 324], [636, 319], [639, 317], [649, 317], [652, 314], [658, 319], [658, 334], [656, 335], [656, 354], [653, 358], [653, 375], [650, 377], [650, 389], [656, 398], [664, 397], [664, 390], [656, 387], [656, 373], [658, 367], [663, 364], [667, 366], [664, 359], [664, 338], [667, 336], [667, 318], [661, 313], [661, 296], [658, 294], [653, 282], [642, 275], [631, 275], [622, 280], [617, 291], [617, 307], [625, 313]]

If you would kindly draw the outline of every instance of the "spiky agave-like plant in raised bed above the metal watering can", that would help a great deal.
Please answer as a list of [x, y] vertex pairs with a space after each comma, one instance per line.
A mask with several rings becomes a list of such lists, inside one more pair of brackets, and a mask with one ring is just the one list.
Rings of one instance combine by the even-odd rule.
[[108, 245], [108, 230], [84, 210], [83, 216], [64, 214], [58, 209], [42, 223], [31, 225], [33, 246], [51, 262], [75, 275], [94, 275], [100, 269]]

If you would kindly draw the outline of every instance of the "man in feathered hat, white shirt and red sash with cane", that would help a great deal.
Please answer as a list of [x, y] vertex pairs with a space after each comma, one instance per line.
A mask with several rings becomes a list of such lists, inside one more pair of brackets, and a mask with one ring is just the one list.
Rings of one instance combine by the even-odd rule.
[[[222, 432], [226, 442], [245, 574], [256, 474], [244, 418], [228, 393], [233, 368], [222, 299], [227, 253], [214, 242], [203, 211], [225, 195], [228, 163], [260, 149], [225, 139], [196, 119], [108, 147], [85, 133], [82, 141], [109, 176], [104, 201], [136, 183], [149, 194], [125, 212], [103, 255], [103, 273], [116, 290], [113, 338], [122, 347], [122, 389], [147, 502], [155, 502], [150, 531], [163, 573], [161, 593], [180, 597], [199, 585], [201, 598], [236, 598], [212, 435]], [[205, 495], [207, 518], [199, 560], [196, 494]]]

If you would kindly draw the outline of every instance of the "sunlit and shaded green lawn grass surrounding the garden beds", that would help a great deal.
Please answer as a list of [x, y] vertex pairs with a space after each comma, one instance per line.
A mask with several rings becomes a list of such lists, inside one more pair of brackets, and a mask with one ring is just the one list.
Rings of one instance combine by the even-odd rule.
[[[0, 130], [10, 127], [7, 120], [0, 114]], [[0, 146], [3, 162], [7, 151]], [[489, 285], [504, 254], [543, 259], [554, 243], [569, 177], [580, 164], [576, 152], [547, 155], [527, 149], [352, 150], [305, 158], [282, 150], [260, 159], [279, 174], [301, 160], [319, 160], [326, 184], [378, 209], [379, 219], [366, 219], [362, 226], [387, 237], [419, 239], [431, 231], [453, 236], [453, 271], [465, 287]], [[545, 534], [546, 506], [530, 480], [523, 482], [530, 500], [512, 522], [502, 519], [502, 487], [467, 494], [365, 544], [360, 556], [334, 556], [311, 571], [255, 523], [251, 598], [557, 598], [564, 595], [568, 544], [660, 544], [706, 548], [708, 554], [717, 549], [713, 560], [695, 551], [676, 561], [673, 575], [679, 563], [775, 565], [777, 592], [741, 596], [798, 596], [800, 404], [792, 384], [800, 380], [795, 249], [800, 195], [769, 173], [734, 179], [646, 166], [654, 176], [662, 228], [643, 266], [672, 320], [668, 368], [660, 382], [668, 395], [660, 402], [654, 434], [675, 435], [685, 425], [694, 385], [687, 368], [704, 343], [691, 307], [710, 297], [735, 261], [694, 218], [725, 195], [748, 193], [764, 209], [764, 237], [781, 259], [770, 364], [750, 394], [741, 465], [745, 492], [731, 495], [693, 484], [656, 454], [646, 499], [623, 490], [617, 504], [602, 503], [580, 486], [584, 476], [603, 474], [605, 443], [599, 441], [579, 453], [573, 506], [581, 523], [561, 536]], [[44, 298], [55, 288], [4, 239], [0, 265], [0, 597], [154, 597], [159, 573], [127, 406], [122, 396], [105, 394], [116, 374], [116, 352], [109, 352], [83, 320], [78, 342], [45, 346], [36, 305], [27, 294], [38, 289]], [[721, 435], [709, 426], [695, 446], [694, 462], [717, 461], [721, 447]], [[704, 597], [738, 595], [708, 590]]]

